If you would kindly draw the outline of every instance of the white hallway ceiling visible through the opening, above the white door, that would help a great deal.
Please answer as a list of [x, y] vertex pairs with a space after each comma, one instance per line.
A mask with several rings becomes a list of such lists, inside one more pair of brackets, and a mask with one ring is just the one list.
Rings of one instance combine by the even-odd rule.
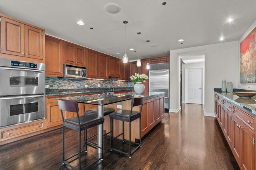
[[204, 63], [205, 51], [190, 51], [186, 53], [178, 53], [178, 56], [185, 64]]

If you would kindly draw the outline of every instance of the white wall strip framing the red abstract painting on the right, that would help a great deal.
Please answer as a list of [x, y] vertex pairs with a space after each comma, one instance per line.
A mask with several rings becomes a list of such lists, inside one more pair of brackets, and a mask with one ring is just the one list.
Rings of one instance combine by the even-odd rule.
[[[242, 37], [238, 40], [238, 88], [241, 88], [241, 89], [256, 90], [256, 83], [243, 83], [243, 84], [240, 83], [240, 43], [255, 27], [256, 27], [256, 21], [252, 23], [252, 25], [247, 29], [244, 35], [242, 35]], [[250, 88], [248, 88], [248, 85], [250, 85]]]

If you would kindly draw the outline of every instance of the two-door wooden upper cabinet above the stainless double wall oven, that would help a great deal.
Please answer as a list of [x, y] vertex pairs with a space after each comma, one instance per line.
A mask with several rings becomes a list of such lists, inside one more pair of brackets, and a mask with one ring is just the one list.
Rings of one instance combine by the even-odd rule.
[[32, 60], [3, 57], [44, 63], [44, 29], [1, 16], [1, 47], [1, 54], [27, 57]]

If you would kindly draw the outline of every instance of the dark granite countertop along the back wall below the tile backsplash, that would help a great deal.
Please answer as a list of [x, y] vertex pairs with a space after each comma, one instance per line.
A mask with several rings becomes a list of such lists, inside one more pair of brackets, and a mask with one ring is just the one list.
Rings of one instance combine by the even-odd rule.
[[124, 90], [133, 90], [133, 87], [121, 88], [73, 88], [73, 89], [46, 89], [45, 96], [61, 96], [69, 94], [86, 94], [86, 93], [103, 93], [103, 92], [118, 92]]

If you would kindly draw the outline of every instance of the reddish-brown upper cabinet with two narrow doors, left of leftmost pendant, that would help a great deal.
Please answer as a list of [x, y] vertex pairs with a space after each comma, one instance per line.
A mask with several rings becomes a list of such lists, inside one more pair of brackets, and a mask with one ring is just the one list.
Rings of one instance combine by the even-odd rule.
[[108, 57], [108, 76], [120, 77], [121, 60], [115, 57]]

